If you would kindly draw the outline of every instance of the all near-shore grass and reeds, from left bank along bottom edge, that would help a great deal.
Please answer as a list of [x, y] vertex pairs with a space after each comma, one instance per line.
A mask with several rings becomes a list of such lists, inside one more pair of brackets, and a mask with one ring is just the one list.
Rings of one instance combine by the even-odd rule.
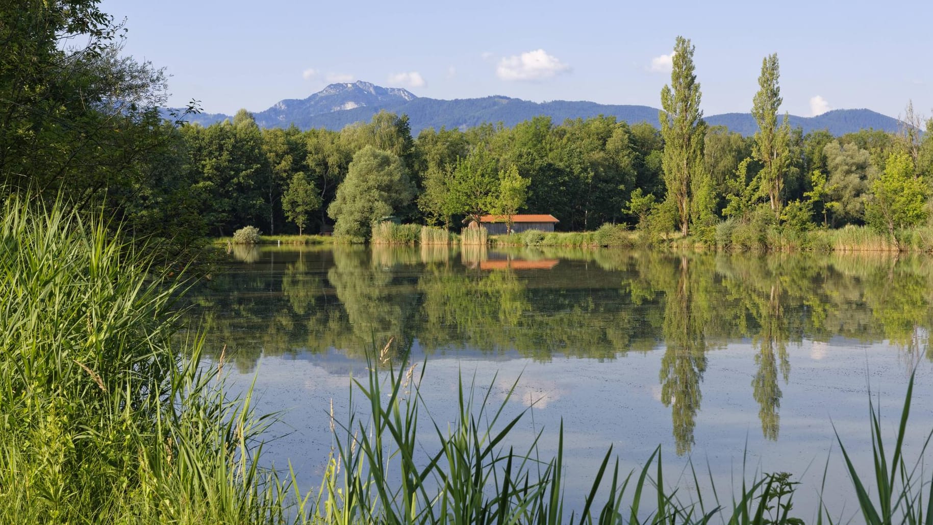
[[[393, 361], [390, 345], [353, 382], [362, 416], [331, 416], [324, 480], [303, 492], [258, 466], [271, 420], [252, 415], [248, 394], [225, 395], [223, 356], [207, 366], [201, 340], [171, 344], [184, 283], [150, 263], [99, 221], [4, 204], [0, 523], [802, 522], [788, 475], [688, 493], [665, 484], [660, 448], [634, 472], [606, 450], [588, 495], [565, 502], [563, 428], [554, 457], [538, 453], [541, 434], [516, 450], [524, 413], [505, 416], [515, 385], [496, 404], [493, 388], [463, 380], [455, 420], [433, 421], [425, 367], [415, 373], [404, 352]], [[839, 438], [867, 523], [933, 523], [933, 480], [902, 454], [912, 384], [893, 448], [870, 410], [873, 472], [856, 472]], [[425, 429], [438, 447], [424, 449]], [[706, 475], [692, 476], [699, 486]], [[815, 511], [833, 522], [831, 509]]]

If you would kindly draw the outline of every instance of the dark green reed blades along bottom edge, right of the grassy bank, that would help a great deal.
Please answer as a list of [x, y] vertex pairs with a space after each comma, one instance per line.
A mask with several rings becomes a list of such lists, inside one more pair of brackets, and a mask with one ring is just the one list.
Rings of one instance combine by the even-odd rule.
[[[454, 421], [439, 424], [430, 416], [420, 393], [426, 362], [419, 369], [403, 355], [400, 362], [380, 357], [368, 361], [369, 373], [353, 380], [351, 399], [362, 397], [366, 418], [352, 411], [347, 421], [333, 423], [334, 449], [316, 499], [305, 497], [301, 522], [354, 523], [728, 523], [801, 525], [794, 505], [800, 484], [790, 474], [756, 473], [741, 487], [720, 498], [712, 469], [707, 465], [707, 490], [692, 463], [689, 474], [695, 490], [670, 487], [664, 480], [661, 447], [640, 469], [621, 472], [610, 447], [592, 486], [582, 501], [565, 502], [564, 428], [558, 431], [553, 457], [543, 458], [538, 444], [541, 431], [521, 450], [508, 436], [527, 415], [506, 416], [515, 393], [511, 384], [504, 398], [494, 402], [495, 379], [479, 385], [462, 377], [456, 390]], [[416, 373], [417, 371], [417, 373]], [[930, 524], [933, 480], [907, 468], [902, 445], [912, 399], [911, 380], [890, 466], [884, 455], [880, 413], [871, 410], [875, 450], [870, 497], [867, 483], [858, 477], [840, 440], [847, 468], [869, 523]], [[484, 394], [478, 394], [484, 393]], [[353, 406], [353, 401], [351, 401]], [[333, 418], [333, 416], [331, 415]], [[428, 436], [420, 435], [428, 429]], [[425, 448], [425, 442], [432, 445]], [[927, 443], [929, 437], [927, 437]], [[434, 445], [437, 443], [437, 445]], [[926, 451], [920, 450], [922, 457]], [[828, 463], [829, 464], [829, 463]], [[823, 486], [828, 480], [824, 473]], [[820, 489], [822, 494], [822, 488]], [[930, 494], [933, 496], [933, 492]], [[836, 523], [820, 496], [814, 514], [817, 523]]]

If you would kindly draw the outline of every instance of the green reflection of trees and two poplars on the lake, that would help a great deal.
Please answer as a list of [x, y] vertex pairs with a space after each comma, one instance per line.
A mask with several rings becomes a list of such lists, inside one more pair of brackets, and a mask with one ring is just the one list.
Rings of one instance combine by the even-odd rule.
[[[210, 350], [239, 369], [260, 355], [397, 342], [432, 352], [598, 360], [662, 352], [660, 401], [678, 453], [694, 443], [709, 359], [749, 344], [745, 395], [780, 435], [788, 348], [890, 341], [905, 370], [931, 359], [933, 270], [918, 256], [670, 254], [443, 246], [256, 249], [194, 295]], [[736, 394], [741, 394], [737, 386]]]

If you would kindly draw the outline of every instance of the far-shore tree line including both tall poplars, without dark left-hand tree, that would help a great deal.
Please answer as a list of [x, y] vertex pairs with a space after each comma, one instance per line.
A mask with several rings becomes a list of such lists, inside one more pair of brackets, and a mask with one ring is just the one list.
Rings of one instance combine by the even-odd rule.
[[678, 37], [661, 130], [615, 117], [535, 117], [512, 128], [427, 129], [377, 114], [341, 131], [259, 129], [232, 121], [184, 126], [188, 177], [216, 235], [256, 225], [309, 228], [356, 239], [395, 218], [461, 228], [482, 214], [553, 214], [559, 229], [625, 223], [712, 242], [717, 225], [841, 228], [894, 235], [926, 224], [933, 120], [909, 105], [898, 133], [842, 136], [791, 129], [777, 55], [762, 60], [749, 97], [759, 123], [745, 137], [703, 121], [694, 47]]

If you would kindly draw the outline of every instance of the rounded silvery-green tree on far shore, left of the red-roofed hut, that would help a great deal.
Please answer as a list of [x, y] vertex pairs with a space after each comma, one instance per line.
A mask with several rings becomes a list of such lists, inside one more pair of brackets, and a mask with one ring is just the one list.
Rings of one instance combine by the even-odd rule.
[[369, 239], [372, 225], [411, 202], [408, 171], [392, 153], [371, 145], [354, 155], [349, 172], [327, 208], [334, 235]]

